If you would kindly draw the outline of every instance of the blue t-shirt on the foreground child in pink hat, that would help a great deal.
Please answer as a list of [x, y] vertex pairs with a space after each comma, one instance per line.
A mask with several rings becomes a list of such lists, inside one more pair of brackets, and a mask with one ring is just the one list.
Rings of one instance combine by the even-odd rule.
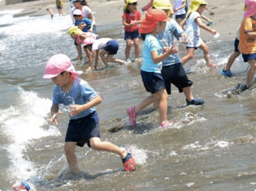
[[[54, 105], [64, 104], [68, 106], [70, 104], [86, 104], [93, 97], [98, 96], [98, 93], [94, 91], [85, 80], [75, 77], [74, 84], [70, 91], [64, 92], [61, 87], [55, 85], [53, 95]], [[70, 119], [79, 119], [88, 116], [94, 111], [96, 111], [95, 107], [86, 109], [75, 117], [69, 117]]]

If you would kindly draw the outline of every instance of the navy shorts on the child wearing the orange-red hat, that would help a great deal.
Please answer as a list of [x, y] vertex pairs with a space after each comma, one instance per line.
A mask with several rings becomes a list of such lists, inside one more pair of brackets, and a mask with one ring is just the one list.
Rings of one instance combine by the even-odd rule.
[[145, 90], [149, 91], [151, 94], [154, 94], [155, 92], [163, 90], [165, 88], [163, 77], [159, 73], [145, 72], [141, 70], [141, 78]]

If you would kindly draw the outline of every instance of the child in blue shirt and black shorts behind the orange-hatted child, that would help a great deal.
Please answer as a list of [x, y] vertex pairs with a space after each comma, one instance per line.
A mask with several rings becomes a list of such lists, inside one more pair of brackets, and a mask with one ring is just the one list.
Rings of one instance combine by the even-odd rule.
[[[168, 14], [170, 11], [169, 2], [167, 4], [163, 4], [160, 8]], [[170, 19], [167, 21], [167, 25], [164, 28], [163, 33], [158, 34], [158, 38], [165, 40], [166, 44], [170, 45], [175, 40], [175, 37], [177, 39], [188, 38], [186, 33], [180, 28], [180, 25], [176, 23], [174, 19]], [[189, 41], [186, 40], [186, 43], [188, 42]], [[163, 60], [163, 69], [161, 74], [163, 76], [168, 95], [171, 95], [171, 83], [173, 83], [173, 85], [179, 89], [180, 93], [184, 92], [187, 105], [202, 105], [205, 103], [204, 100], [193, 97], [191, 91], [193, 82], [188, 79], [177, 53], [172, 54], [167, 57], [167, 59]]]

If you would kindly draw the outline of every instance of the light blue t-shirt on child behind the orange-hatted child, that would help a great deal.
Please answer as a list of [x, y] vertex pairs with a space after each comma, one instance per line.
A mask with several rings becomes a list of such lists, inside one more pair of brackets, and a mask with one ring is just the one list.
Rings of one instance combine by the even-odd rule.
[[[177, 39], [180, 38], [180, 34], [184, 31], [180, 28], [180, 25], [174, 20], [171, 19], [170, 21], [167, 21], [167, 25], [163, 30], [162, 34], [158, 34], [158, 39], [164, 40], [166, 42], [166, 45], [169, 46], [170, 43], [175, 40], [174, 37]], [[169, 57], [167, 57], [165, 60], [163, 60], [163, 66], [170, 66], [177, 63], [180, 63], [180, 57], [178, 54], [171, 54]]]

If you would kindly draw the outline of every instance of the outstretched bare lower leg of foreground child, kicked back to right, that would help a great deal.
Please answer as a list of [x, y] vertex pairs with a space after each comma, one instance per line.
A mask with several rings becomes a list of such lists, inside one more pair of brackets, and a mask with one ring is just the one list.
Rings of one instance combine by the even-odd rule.
[[93, 150], [112, 152], [119, 155], [122, 159], [127, 155], [125, 148], [116, 146], [111, 142], [102, 142], [100, 138], [90, 138], [89, 144]]

